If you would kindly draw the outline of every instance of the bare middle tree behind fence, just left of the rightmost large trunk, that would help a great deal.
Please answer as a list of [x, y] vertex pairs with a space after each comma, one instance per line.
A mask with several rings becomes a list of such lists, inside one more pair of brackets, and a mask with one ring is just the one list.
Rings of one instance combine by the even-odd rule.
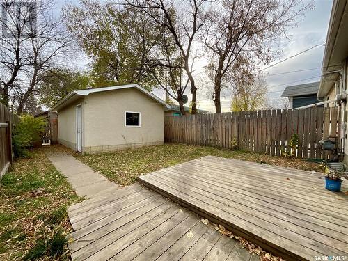
[[[195, 48], [193, 44], [203, 26], [206, 1], [127, 0], [129, 8], [138, 8], [147, 13], [153, 21], [171, 34], [183, 62], [182, 65], [176, 65], [174, 69], [182, 68], [186, 72], [191, 86], [192, 114], [197, 112], [197, 87], [193, 78], [193, 64], [196, 54], [193, 54], [193, 48]], [[173, 68], [173, 65], [168, 63], [161, 63], [161, 66]]]

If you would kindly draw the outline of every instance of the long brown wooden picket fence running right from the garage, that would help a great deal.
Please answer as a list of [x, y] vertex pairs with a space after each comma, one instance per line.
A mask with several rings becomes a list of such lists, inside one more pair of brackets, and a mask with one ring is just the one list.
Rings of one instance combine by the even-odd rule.
[[282, 155], [290, 149], [293, 134], [297, 134], [296, 157], [330, 159], [331, 152], [322, 151], [319, 141], [340, 137], [341, 113], [340, 107], [315, 106], [171, 116], [165, 118], [164, 136], [168, 142], [221, 148], [232, 148], [236, 143], [240, 149]]

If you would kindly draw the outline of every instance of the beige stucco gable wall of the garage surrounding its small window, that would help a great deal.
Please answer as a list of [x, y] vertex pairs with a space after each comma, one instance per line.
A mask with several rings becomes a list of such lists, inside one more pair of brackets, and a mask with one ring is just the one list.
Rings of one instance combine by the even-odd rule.
[[[83, 152], [164, 143], [164, 106], [134, 88], [90, 93], [83, 111]], [[125, 111], [141, 113], [141, 127], [125, 127]]]

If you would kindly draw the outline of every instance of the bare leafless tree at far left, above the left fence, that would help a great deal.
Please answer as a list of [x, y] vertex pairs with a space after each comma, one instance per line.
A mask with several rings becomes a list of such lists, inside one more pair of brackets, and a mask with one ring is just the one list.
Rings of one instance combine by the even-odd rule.
[[6, 0], [1, 7], [6, 14], [1, 20], [1, 100], [21, 114], [27, 105], [35, 107], [43, 72], [61, 62], [70, 49], [71, 38], [52, 16], [52, 0]]

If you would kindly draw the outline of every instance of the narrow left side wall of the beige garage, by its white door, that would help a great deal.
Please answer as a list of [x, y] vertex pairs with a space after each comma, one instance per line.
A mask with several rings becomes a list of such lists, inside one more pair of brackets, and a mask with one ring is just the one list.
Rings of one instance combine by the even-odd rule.
[[77, 150], [76, 106], [81, 104], [82, 113], [82, 145], [84, 144], [84, 98], [58, 111], [58, 141], [72, 150]]

